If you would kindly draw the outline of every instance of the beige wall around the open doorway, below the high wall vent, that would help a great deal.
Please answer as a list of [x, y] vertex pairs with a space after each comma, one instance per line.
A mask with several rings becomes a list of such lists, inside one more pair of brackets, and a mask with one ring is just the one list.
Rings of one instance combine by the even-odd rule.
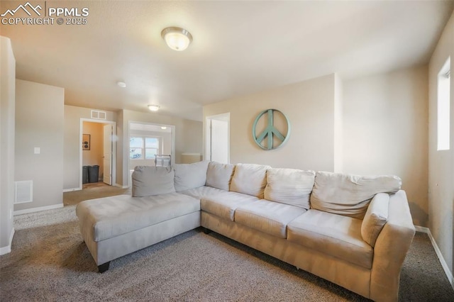
[[[80, 145], [80, 120], [81, 118], [89, 119], [91, 117], [91, 108], [65, 105], [65, 146], [63, 162], [63, 189], [82, 189], [79, 188], [80, 173], [82, 172], [79, 163]], [[116, 121], [117, 114], [112, 111], [106, 112], [106, 121]], [[117, 123], [118, 130], [118, 123]], [[117, 133], [118, 135], [118, 133]], [[117, 145], [118, 150], [118, 145]], [[118, 156], [117, 156], [118, 160]], [[118, 167], [118, 164], [117, 164]], [[117, 169], [117, 175], [118, 169]], [[118, 176], [117, 176], [118, 179]]]

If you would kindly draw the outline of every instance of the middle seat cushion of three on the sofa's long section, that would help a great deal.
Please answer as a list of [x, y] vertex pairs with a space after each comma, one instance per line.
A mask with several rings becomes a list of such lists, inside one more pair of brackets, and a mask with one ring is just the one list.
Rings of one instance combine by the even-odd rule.
[[299, 206], [261, 199], [238, 207], [235, 221], [263, 233], [287, 238], [287, 224], [305, 211]]

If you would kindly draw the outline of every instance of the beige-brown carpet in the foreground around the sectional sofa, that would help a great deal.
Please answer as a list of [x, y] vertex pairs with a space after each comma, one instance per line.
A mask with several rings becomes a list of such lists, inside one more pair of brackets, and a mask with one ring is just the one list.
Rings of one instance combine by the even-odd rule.
[[[97, 273], [74, 206], [15, 217], [0, 256], [1, 301], [366, 301], [228, 238], [192, 230]], [[416, 233], [399, 301], [454, 301], [426, 234]]]

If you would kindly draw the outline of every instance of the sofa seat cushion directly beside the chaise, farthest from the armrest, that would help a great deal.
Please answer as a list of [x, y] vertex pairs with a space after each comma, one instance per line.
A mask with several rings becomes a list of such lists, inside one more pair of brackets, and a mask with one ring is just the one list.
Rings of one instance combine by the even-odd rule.
[[222, 191], [216, 195], [202, 197], [200, 208], [202, 211], [234, 221], [236, 208], [258, 200], [259, 198], [255, 196]]

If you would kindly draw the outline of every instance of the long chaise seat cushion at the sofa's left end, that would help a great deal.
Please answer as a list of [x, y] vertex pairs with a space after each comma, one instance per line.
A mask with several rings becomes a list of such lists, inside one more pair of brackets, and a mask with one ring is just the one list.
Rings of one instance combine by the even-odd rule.
[[97, 198], [82, 201], [76, 208], [83, 231], [92, 232], [96, 242], [196, 211], [200, 211], [199, 199], [178, 193]]

